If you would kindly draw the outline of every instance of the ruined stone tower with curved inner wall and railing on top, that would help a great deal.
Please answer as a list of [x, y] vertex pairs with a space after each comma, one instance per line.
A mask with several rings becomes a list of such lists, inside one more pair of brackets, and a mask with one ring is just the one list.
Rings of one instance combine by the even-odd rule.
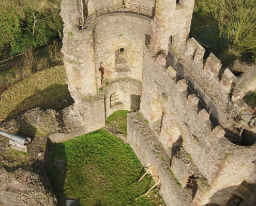
[[63, 0], [66, 82], [86, 131], [137, 110], [144, 47], [184, 49], [191, 0]]

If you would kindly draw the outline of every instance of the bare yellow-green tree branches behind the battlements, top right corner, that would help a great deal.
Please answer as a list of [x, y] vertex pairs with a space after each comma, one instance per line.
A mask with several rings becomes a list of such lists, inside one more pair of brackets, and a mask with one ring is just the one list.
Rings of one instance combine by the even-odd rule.
[[217, 43], [222, 51], [233, 48], [256, 55], [255, 5], [256, 0], [196, 0], [192, 36], [207, 29], [207, 41]]

